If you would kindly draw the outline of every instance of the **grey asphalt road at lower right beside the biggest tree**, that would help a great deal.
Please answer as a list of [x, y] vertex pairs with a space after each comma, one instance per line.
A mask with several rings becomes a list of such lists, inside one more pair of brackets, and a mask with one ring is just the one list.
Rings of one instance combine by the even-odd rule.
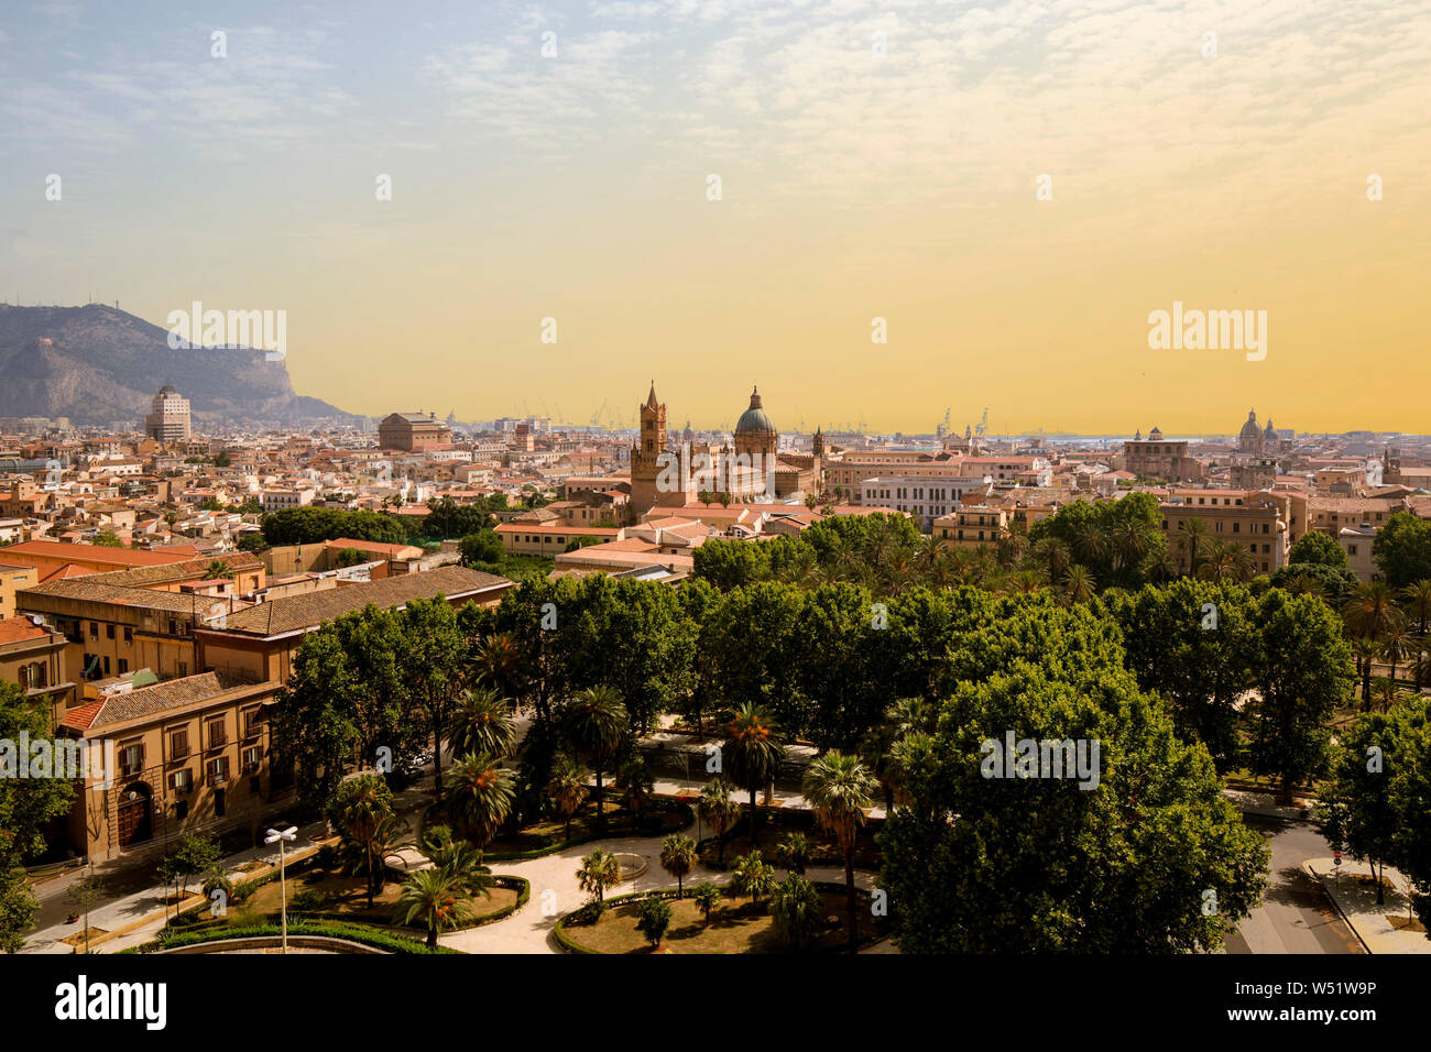
[[1228, 953], [1365, 953], [1302, 862], [1331, 849], [1311, 824], [1246, 814], [1251, 829], [1272, 846], [1272, 879], [1262, 905], [1228, 935]]

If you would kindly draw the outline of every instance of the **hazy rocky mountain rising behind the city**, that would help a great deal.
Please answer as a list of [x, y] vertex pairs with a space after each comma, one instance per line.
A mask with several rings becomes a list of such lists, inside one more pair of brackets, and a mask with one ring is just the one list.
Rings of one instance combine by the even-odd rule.
[[0, 303], [0, 417], [69, 417], [74, 424], [142, 418], [165, 384], [196, 422], [358, 422], [295, 395], [283, 362], [249, 348], [169, 346], [169, 331], [112, 306]]

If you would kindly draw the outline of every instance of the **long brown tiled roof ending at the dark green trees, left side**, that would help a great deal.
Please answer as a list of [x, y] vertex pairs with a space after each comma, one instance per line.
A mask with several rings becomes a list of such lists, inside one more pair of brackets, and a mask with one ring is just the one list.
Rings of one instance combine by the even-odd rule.
[[495, 574], [484, 574], [465, 567], [441, 567], [419, 574], [385, 577], [366, 584], [339, 585], [325, 591], [305, 593], [260, 603], [256, 607], [230, 614], [225, 624], [228, 631], [278, 635], [289, 631], [313, 628], [325, 621], [362, 610], [369, 603], [379, 607], [398, 607], [418, 598], [465, 595], [484, 588], [509, 585], [511, 581]]

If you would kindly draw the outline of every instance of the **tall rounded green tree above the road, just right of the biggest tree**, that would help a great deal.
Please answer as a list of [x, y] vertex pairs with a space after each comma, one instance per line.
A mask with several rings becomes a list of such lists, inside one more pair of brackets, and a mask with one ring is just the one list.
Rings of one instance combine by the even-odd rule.
[[1327, 766], [1327, 721], [1351, 696], [1351, 650], [1337, 615], [1311, 595], [1272, 588], [1262, 597], [1258, 623], [1248, 759], [1254, 773], [1281, 781], [1281, 800], [1289, 804], [1292, 786]]

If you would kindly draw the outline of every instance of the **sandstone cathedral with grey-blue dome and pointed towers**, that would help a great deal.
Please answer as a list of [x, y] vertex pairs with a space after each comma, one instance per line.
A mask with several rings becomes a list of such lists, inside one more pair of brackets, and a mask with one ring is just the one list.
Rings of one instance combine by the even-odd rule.
[[697, 504], [703, 492], [727, 492], [734, 504], [784, 502], [824, 492], [824, 432], [816, 429], [810, 452], [781, 454], [780, 432], [758, 388], [750, 392], [750, 406], [736, 424], [733, 445], [697, 444], [690, 422], [673, 442], [655, 381], [640, 418], [641, 432], [631, 447], [630, 507], [635, 521], [653, 508]]

